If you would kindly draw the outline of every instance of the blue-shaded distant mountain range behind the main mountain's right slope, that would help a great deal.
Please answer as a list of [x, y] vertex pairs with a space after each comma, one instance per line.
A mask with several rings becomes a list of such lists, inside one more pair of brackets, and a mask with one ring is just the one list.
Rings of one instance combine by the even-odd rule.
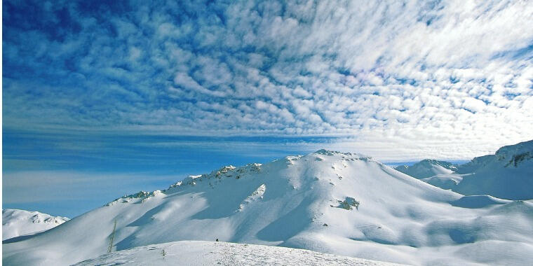
[[421, 160], [396, 170], [463, 195], [492, 195], [508, 200], [533, 199], [533, 141], [504, 146], [494, 155], [464, 165]]

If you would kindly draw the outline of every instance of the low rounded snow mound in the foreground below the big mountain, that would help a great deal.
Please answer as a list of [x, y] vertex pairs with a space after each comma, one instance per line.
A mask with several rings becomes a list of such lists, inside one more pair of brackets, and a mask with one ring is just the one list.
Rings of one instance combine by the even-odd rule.
[[[163, 255], [163, 251], [164, 254]], [[79, 262], [89, 265], [353, 265], [393, 266], [297, 248], [212, 241], [177, 241], [116, 251]]]

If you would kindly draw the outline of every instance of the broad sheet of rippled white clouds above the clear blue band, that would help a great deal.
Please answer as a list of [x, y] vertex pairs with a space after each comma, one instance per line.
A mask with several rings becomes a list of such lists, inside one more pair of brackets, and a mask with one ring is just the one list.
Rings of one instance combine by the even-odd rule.
[[79, 13], [65, 41], [8, 34], [6, 62], [79, 76], [8, 72], [4, 125], [354, 137], [377, 157], [462, 158], [532, 137], [527, 1], [147, 4], [110, 13], [113, 30]]

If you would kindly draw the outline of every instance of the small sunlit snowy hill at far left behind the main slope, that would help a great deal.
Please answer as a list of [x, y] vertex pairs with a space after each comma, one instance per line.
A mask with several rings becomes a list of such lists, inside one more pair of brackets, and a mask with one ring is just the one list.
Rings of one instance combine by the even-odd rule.
[[69, 221], [67, 217], [50, 216], [38, 211], [2, 209], [2, 240], [33, 235]]

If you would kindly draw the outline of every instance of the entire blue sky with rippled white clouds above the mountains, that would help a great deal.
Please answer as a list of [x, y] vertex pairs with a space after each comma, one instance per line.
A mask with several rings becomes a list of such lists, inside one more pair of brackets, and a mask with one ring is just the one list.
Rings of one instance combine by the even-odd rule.
[[533, 139], [528, 1], [2, 3], [3, 207], [75, 216], [319, 148]]

